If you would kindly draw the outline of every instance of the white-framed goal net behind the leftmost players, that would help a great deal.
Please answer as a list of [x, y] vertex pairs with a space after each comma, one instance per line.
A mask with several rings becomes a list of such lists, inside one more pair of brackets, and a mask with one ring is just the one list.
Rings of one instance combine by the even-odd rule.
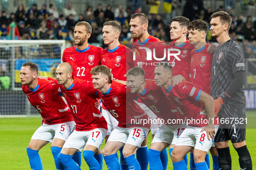
[[32, 62], [38, 76], [55, 78], [62, 62], [65, 40], [0, 40], [0, 116], [39, 114], [21, 89], [20, 68]]

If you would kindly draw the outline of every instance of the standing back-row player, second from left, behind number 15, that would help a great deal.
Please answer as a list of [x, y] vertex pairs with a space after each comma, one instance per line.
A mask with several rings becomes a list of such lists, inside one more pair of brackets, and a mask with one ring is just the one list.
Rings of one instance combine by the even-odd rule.
[[[100, 64], [107, 66], [111, 73], [112, 77], [118, 80], [126, 80], [124, 76], [126, 73], [126, 53], [130, 56], [133, 55], [131, 49], [119, 43], [118, 38], [121, 33], [121, 25], [116, 21], [107, 21], [104, 23], [102, 28], [102, 38], [104, 44], [108, 45], [106, 50], [103, 50], [100, 56]], [[133, 64], [133, 63], [132, 63]], [[102, 105], [102, 115], [107, 121], [107, 135], [105, 142], [110, 135], [110, 133], [118, 125], [118, 121], [110, 115], [106, 107]], [[120, 148], [120, 163], [123, 170], [127, 169], [127, 164], [123, 158], [122, 154], [123, 148]]]

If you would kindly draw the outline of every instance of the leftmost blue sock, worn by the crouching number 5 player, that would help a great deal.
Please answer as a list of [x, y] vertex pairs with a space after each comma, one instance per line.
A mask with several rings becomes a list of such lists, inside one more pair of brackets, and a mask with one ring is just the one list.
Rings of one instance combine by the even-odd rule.
[[31, 169], [42, 170], [42, 160], [37, 150], [27, 148], [27, 154], [29, 156], [29, 164]]

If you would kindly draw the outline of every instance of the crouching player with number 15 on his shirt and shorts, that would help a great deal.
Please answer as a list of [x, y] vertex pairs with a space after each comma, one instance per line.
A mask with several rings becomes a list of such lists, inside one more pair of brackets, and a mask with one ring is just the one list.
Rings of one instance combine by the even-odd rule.
[[[132, 124], [132, 120], [148, 120], [147, 114], [135, 103], [134, 95], [126, 85], [111, 80], [110, 69], [106, 66], [96, 66], [91, 69], [94, 88], [107, 110], [119, 122], [113, 129], [110, 137], [102, 150], [107, 168], [121, 170], [116, 153], [123, 146], [123, 157], [128, 169], [141, 170], [135, 158], [138, 147], [149, 131], [150, 124]], [[126, 94], [127, 92], [127, 94]]]

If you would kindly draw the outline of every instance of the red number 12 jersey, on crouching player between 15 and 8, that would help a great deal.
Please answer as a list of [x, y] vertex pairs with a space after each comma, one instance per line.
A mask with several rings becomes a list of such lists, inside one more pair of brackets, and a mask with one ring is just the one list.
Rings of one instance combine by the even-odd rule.
[[141, 94], [137, 93], [137, 98], [155, 113], [157, 117], [163, 119], [166, 125], [177, 124], [167, 124], [168, 119], [184, 119], [181, 114], [178, 114], [177, 108], [172, 106], [165, 94], [162, 93], [161, 87], [157, 86], [156, 82], [153, 80], [146, 79], [144, 90]]

